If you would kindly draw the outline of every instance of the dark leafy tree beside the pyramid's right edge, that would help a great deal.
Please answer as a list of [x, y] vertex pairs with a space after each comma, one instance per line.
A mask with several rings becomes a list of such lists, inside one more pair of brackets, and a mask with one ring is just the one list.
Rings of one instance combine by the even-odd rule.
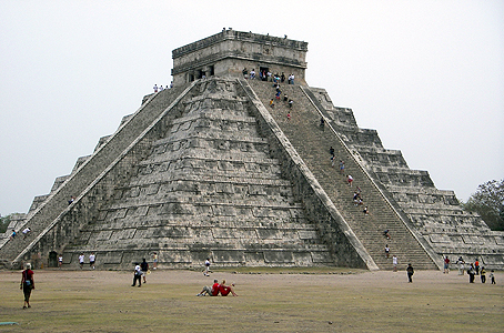
[[478, 185], [463, 206], [478, 213], [490, 229], [504, 231], [504, 179]]

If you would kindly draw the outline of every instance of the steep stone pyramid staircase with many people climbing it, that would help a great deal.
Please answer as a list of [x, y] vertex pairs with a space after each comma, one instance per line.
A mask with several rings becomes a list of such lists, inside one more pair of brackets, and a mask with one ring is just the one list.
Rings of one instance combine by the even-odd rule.
[[[320, 127], [323, 114], [309, 97], [309, 88], [281, 84], [282, 99], [275, 99], [274, 108], [270, 108], [269, 102], [275, 94], [272, 83], [250, 80], [249, 84], [262, 103], [268, 105], [283, 133], [380, 269], [391, 269], [394, 254], [403, 265], [411, 262], [419, 269], [437, 268], [427, 254], [426, 245], [421, 244], [419, 238], [405, 225], [343, 141], [327, 124], [324, 128]], [[283, 101], [283, 94], [288, 94], [289, 99], [294, 101], [292, 109]], [[291, 113], [290, 119], [286, 117], [288, 112]], [[335, 150], [336, 161], [344, 161], [345, 174], [340, 174], [337, 162], [332, 167], [330, 147]], [[346, 174], [354, 179], [352, 188], [346, 182]], [[369, 215], [363, 213], [363, 206], [355, 206], [353, 202], [356, 186], [362, 190], [364, 204], [369, 206]], [[392, 236], [390, 240], [383, 236], [384, 230], [390, 230]], [[391, 249], [389, 259], [384, 253], [386, 244]]]

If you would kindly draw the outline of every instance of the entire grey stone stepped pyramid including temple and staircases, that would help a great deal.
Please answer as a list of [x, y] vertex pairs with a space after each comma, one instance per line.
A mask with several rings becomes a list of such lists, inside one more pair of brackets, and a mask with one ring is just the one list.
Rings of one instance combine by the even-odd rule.
[[[504, 269], [504, 234], [309, 87], [306, 51], [306, 42], [234, 30], [173, 50], [173, 88], [144, 97], [37, 196], [9, 226], [32, 232], [4, 235], [0, 261], [57, 266], [63, 254], [63, 266], [77, 268], [80, 253], [94, 252], [98, 269], [130, 269], [155, 252], [161, 269], [210, 258], [213, 266], [389, 270], [387, 244], [415, 269], [439, 269], [444, 255]], [[280, 99], [268, 72], [285, 75]]]

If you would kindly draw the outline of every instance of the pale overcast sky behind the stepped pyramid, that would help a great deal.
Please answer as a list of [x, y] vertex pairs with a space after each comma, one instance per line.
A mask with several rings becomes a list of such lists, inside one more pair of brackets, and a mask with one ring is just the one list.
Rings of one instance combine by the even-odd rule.
[[0, 213], [27, 212], [222, 28], [309, 42], [306, 81], [467, 200], [504, 178], [504, 1], [0, 0]]

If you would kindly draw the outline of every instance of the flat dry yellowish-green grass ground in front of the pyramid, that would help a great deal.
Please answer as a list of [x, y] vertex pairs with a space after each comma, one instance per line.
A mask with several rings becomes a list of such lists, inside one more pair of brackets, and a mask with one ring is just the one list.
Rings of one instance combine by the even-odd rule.
[[[34, 271], [22, 310], [20, 271], [0, 272], [0, 332], [504, 332], [504, 273], [496, 285], [456, 272], [240, 269], [203, 276], [158, 270]], [[490, 272], [488, 272], [490, 273]], [[213, 279], [238, 297], [196, 297]]]

